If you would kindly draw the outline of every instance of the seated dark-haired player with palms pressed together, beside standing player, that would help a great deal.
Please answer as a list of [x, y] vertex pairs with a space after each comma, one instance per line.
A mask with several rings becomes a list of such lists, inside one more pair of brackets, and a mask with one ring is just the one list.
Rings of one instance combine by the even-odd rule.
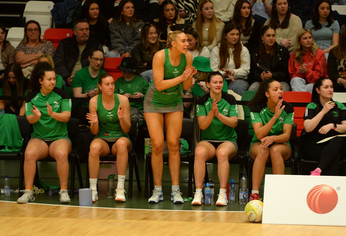
[[202, 185], [206, 172], [206, 161], [215, 156], [218, 159], [220, 194], [216, 206], [226, 206], [227, 182], [229, 176], [228, 160], [237, 154], [237, 134], [234, 127], [238, 124], [236, 99], [222, 91], [224, 78], [220, 72], [211, 72], [207, 86], [210, 92], [201, 97], [196, 105], [198, 125], [202, 130], [200, 142], [195, 148], [194, 180], [196, 192], [191, 205], [203, 203]]

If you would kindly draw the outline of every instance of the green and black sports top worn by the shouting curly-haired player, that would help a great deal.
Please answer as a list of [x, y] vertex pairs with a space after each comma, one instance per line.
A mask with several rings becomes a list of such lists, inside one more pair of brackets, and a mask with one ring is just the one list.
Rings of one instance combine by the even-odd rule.
[[[281, 106], [285, 106], [285, 108], [281, 112], [281, 115], [279, 116], [279, 118], [276, 119], [272, 129], [270, 130], [269, 134], [267, 134], [267, 136], [283, 134], [283, 124], [293, 125], [293, 116], [294, 116], [293, 106], [290, 103], [285, 101], [282, 101]], [[260, 104], [252, 105], [250, 108], [250, 118], [251, 118], [252, 124], [262, 122], [262, 124], [265, 125], [274, 116], [274, 114], [275, 114], [275, 111], [271, 112], [269, 110], [267, 106], [267, 101], [264, 101]], [[252, 138], [252, 141], [251, 141], [251, 145], [257, 142], [261, 142], [261, 140], [256, 137], [256, 134], [254, 134], [254, 137]], [[287, 142], [287, 143], [290, 144], [290, 142]]]

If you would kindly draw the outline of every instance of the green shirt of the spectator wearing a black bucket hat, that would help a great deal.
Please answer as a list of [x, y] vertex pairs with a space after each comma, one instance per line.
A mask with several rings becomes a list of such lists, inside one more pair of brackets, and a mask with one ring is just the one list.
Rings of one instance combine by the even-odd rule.
[[[136, 92], [140, 92], [144, 95], [148, 88], [149, 83], [139, 75], [136, 75], [135, 78], [130, 81], [126, 81], [124, 76], [122, 76], [115, 82], [114, 92], [121, 95], [124, 95], [125, 93], [133, 95]], [[130, 102], [130, 107], [143, 111], [143, 102]]]

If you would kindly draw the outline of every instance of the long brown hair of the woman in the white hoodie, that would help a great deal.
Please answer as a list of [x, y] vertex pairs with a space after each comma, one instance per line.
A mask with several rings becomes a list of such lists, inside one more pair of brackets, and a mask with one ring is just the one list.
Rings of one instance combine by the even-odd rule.
[[[226, 68], [228, 63], [229, 63], [229, 51], [228, 51], [228, 47], [227, 47], [227, 34], [229, 33], [229, 31], [236, 29], [239, 31], [239, 28], [237, 28], [233, 23], [228, 23], [227, 25], [225, 25], [224, 29], [222, 30], [222, 38], [220, 40], [220, 49], [219, 49], [219, 57], [220, 57], [220, 64], [219, 64], [219, 70], [221, 71], [222, 68]], [[240, 39], [238, 39], [238, 42], [234, 45], [234, 50], [233, 53], [231, 55], [231, 57], [233, 57], [233, 61], [235, 64], [235, 68], [234, 69], [238, 69], [240, 68], [240, 66], [242, 65], [242, 50], [243, 50], [243, 46], [242, 43], [240, 42]]]

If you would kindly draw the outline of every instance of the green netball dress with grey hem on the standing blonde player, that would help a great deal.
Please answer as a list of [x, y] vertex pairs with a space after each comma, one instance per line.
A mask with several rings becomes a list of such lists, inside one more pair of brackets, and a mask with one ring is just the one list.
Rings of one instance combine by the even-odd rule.
[[[186, 67], [186, 56], [181, 54], [178, 66], [173, 66], [170, 62], [168, 48], [164, 49], [164, 80], [174, 79], [183, 74]], [[155, 70], [155, 69], [154, 69]], [[158, 91], [155, 83], [152, 81], [144, 99], [144, 112], [173, 112], [183, 110], [183, 100], [181, 98], [180, 84], [171, 88]]]

